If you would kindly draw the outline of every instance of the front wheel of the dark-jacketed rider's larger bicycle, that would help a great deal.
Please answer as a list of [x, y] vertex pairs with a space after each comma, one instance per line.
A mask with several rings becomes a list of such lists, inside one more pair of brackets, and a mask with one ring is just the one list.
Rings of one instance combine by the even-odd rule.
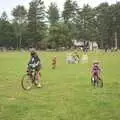
[[21, 80], [21, 86], [24, 90], [30, 90], [33, 86], [32, 79], [29, 75], [25, 74]]

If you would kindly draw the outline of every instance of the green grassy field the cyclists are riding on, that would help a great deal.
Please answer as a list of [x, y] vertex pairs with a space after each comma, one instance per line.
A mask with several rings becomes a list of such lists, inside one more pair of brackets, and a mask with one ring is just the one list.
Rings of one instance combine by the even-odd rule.
[[[52, 56], [57, 68], [51, 69]], [[43, 88], [24, 91], [29, 53], [0, 53], [0, 120], [120, 120], [120, 55], [89, 53], [89, 63], [65, 63], [66, 52], [41, 52]], [[90, 66], [101, 61], [104, 88], [90, 85]]]

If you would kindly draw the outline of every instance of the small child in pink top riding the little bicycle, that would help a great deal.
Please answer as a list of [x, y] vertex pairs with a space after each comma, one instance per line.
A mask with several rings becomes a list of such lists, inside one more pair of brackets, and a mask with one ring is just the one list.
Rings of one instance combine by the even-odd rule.
[[94, 61], [92, 65], [92, 71], [91, 71], [92, 79], [96, 76], [99, 80], [101, 80], [100, 73], [101, 73], [101, 68], [99, 66], [99, 62]]

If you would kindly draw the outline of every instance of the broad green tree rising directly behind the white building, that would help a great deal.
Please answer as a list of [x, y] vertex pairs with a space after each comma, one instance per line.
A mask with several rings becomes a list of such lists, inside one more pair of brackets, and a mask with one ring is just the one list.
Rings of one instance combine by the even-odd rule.
[[77, 40], [93, 40], [96, 33], [95, 11], [89, 5], [84, 5], [79, 9], [75, 18]]

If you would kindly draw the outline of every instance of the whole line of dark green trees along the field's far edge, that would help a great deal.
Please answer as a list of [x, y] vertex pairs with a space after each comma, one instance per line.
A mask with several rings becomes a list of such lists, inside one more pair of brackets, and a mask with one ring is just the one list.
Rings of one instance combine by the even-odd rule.
[[11, 13], [11, 21], [6, 12], [0, 17], [0, 47], [71, 48], [72, 40], [86, 40], [120, 48], [120, 2], [80, 8], [66, 0], [60, 12], [56, 3], [46, 9], [43, 0], [32, 0], [28, 11], [18, 5]]

